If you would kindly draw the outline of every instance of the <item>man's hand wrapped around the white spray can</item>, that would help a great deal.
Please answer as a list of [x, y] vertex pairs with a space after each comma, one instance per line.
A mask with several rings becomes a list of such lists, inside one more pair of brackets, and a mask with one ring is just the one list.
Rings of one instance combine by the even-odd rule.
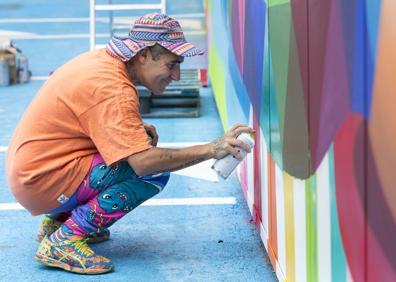
[[236, 139], [241, 133], [254, 133], [255, 131], [244, 125], [235, 124], [230, 130], [228, 130], [223, 136], [214, 140], [210, 144], [212, 145], [213, 158], [221, 159], [228, 154], [232, 154], [238, 160], [242, 160], [241, 154], [235, 147], [240, 147], [246, 152], [250, 152], [249, 145], [245, 144], [241, 140]]

